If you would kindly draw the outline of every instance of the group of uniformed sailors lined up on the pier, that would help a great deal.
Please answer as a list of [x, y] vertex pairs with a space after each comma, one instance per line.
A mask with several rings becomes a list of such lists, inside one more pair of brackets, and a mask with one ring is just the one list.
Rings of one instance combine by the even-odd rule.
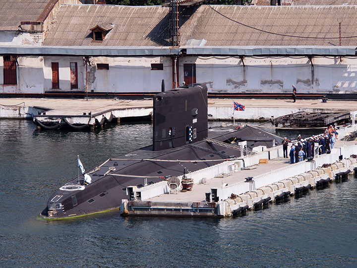
[[[330, 126], [332, 128], [332, 126]], [[299, 134], [297, 137], [297, 142], [293, 143], [290, 147], [290, 163], [297, 163], [305, 160], [308, 157], [315, 156], [315, 143], [318, 143], [318, 154], [330, 153], [331, 149], [334, 148], [336, 142], [336, 136], [338, 133], [336, 131], [329, 132], [330, 129], [327, 128], [324, 134], [315, 135], [308, 137], [306, 139], [301, 138]], [[290, 140], [286, 137], [283, 140], [283, 152], [284, 158], [288, 158], [288, 146]]]

